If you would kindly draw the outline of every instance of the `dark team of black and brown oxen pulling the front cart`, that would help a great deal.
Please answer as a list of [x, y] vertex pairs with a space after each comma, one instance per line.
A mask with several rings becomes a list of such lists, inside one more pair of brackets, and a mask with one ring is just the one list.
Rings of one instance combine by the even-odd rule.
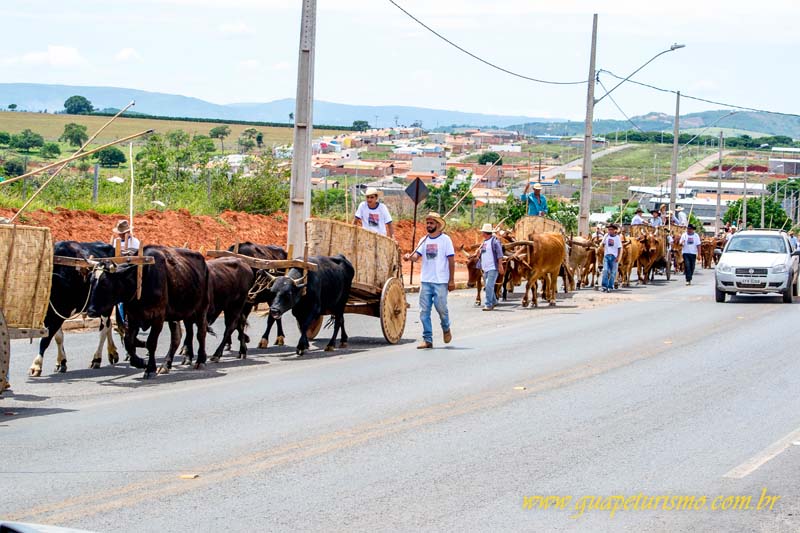
[[[238, 254], [261, 260], [284, 260], [286, 251], [277, 246], [250, 242], [237, 246]], [[233, 251], [234, 247], [230, 248]], [[301, 337], [297, 353], [309, 348], [307, 331], [323, 315], [331, 315], [334, 334], [326, 349], [333, 349], [341, 332], [341, 345], [347, 344], [344, 329], [344, 307], [352, 285], [354, 269], [344, 256], [310, 257], [314, 270], [291, 268], [268, 271], [254, 268], [239, 257], [220, 257], [206, 261], [199, 253], [186, 248], [149, 245], [143, 249], [153, 264], [142, 270], [133, 264], [111, 261], [112, 246], [101, 242], [60, 241], [54, 245], [56, 256], [83, 259], [85, 266], [56, 264], [50, 293], [50, 305], [45, 316], [49, 336], [39, 343], [39, 354], [30, 367], [29, 375], [42, 373], [44, 353], [56, 339], [57, 372], [66, 372], [67, 357], [63, 347], [61, 327], [73, 314], [87, 313], [100, 318], [100, 341], [92, 358], [91, 368], [100, 368], [103, 346], [107, 344], [108, 362], [119, 361], [112, 338], [111, 315], [123, 338], [127, 360], [131, 366], [144, 369], [144, 377], [166, 374], [181, 344], [182, 328], [186, 331], [183, 343], [183, 364], [202, 368], [206, 363], [206, 334], [209, 325], [221, 314], [225, 328], [219, 345], [211, 356], [218, 361], [225, 346], [230, 346], [232, 334], [238, 332], [238, 356], [247, 356], [248, 336], [244, 329], [247, 317], [261, 303], [269, 305], [267, 328], [259, 347], [268, 345], [273, 325], [277, 325], [275, 344], [284, 344], [282, 316], [289, 310], [297, 320]], [[170, 344], [160, 367], [156, 367], [155, 352], [158, 337], [167, 324]], [[140, 331], [148, 331], [146, 341], [138, 339]], [[194, 356], [196, 335], [197, 357]], [[147, 360], [136, 355], [136, 348], [147, 350]]]

